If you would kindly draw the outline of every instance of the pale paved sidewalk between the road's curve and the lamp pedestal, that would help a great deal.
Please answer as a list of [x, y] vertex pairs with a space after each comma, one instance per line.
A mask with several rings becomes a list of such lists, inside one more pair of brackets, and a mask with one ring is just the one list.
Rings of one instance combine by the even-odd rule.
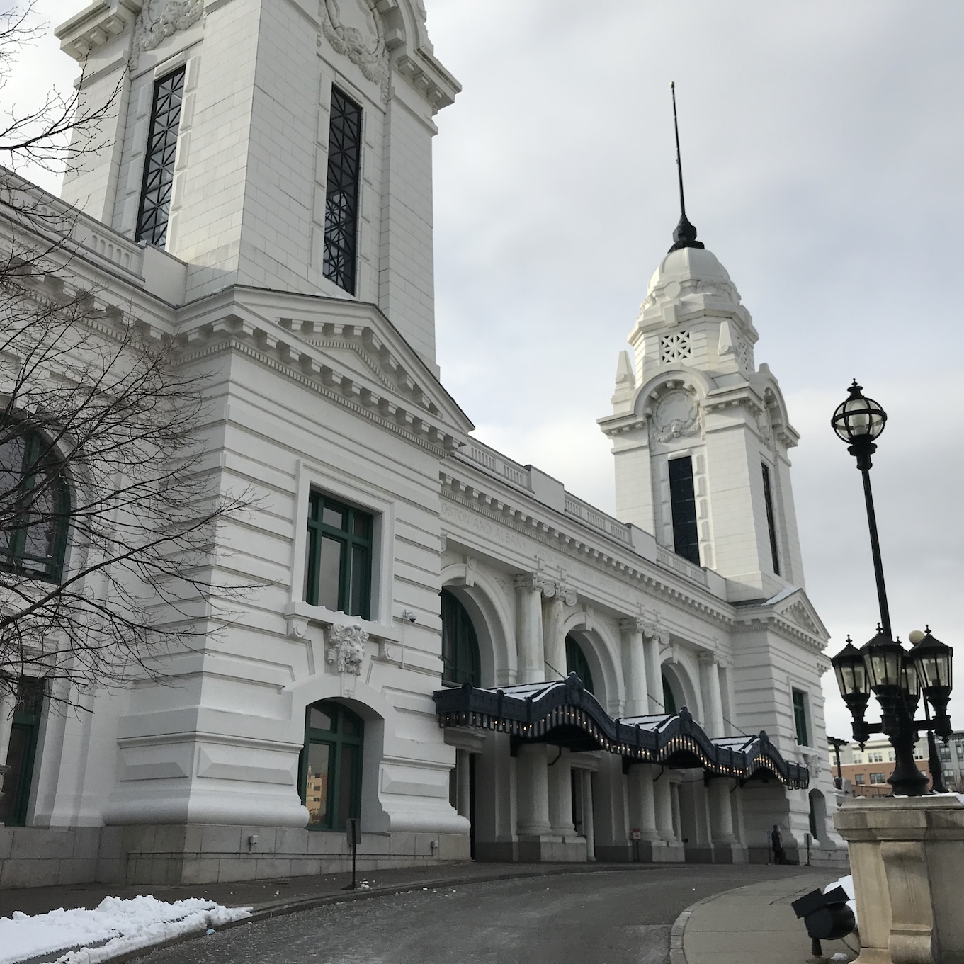
[[[810, 938], [790, 902], [837, 880], [842, 870], [826, 876], [809, 873], [786, 880], [766, 880], [708, 897], [683, 911], [670, 937], [671, 964], [803, 964]], [[853, 960], [856, 936], [823, 941], [824, 957], [843, 952]]]

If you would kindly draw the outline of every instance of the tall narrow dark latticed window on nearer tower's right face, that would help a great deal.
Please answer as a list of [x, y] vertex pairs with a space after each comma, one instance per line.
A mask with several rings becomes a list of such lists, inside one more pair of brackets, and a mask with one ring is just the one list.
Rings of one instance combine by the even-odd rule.
[[326, 278], [351, 295], [355, 294], [361, 157], [362, 108], [333, 87], [323, 270]]

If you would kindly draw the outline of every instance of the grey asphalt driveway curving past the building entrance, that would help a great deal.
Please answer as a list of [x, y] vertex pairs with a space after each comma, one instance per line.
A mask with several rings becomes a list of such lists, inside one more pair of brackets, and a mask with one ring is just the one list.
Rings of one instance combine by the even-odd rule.
[[689, 904], [805, 870], [651, 865], [463, 884], [235, 927], [145, 964], [667, 964]]

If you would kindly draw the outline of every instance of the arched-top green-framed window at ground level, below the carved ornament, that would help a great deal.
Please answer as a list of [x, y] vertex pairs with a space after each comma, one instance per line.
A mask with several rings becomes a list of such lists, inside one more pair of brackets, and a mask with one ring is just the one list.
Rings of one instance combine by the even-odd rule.
[[309, 830], [343, 830], [362, 813], [361, 716], [334, 703], [314, 703], [305, 714], [301, 795]]

